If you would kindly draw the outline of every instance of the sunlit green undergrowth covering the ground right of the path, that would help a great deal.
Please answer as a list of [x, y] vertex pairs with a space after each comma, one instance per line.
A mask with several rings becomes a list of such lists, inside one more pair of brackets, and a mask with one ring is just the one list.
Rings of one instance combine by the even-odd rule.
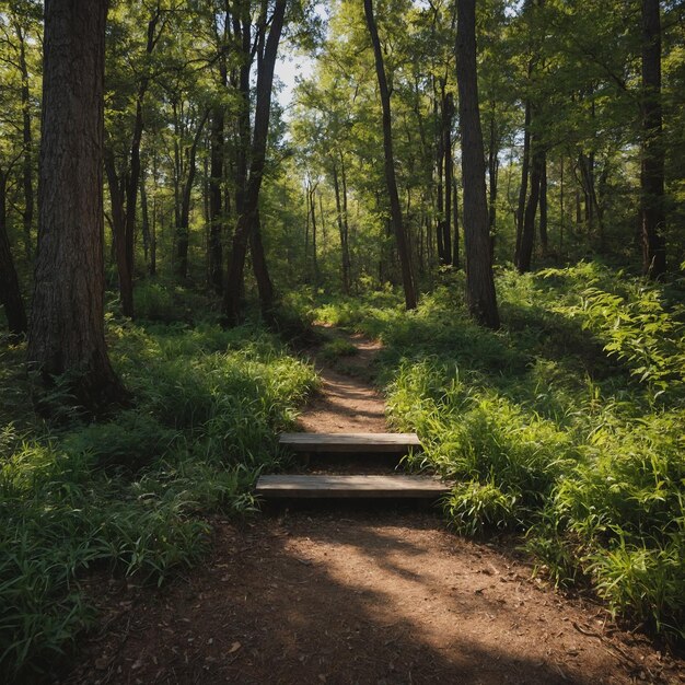
[[455, 485], [461, 533], [525, 534], [538, 570], [590, 582], [615, 615], [685, 638], [683, 280], [597, 264], [497, 274], [502, 328], [476, 326], [463, 275], [405, 312], [391, 292], [310, 316], [383, 340], [395, 428]]

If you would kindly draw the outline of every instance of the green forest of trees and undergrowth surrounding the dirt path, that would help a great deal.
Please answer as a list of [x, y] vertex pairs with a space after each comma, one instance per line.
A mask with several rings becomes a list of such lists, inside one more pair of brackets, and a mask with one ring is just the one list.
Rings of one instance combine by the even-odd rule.
[[682, 650], [684, 105], [678, 0], [0, 0], [0, 675], [259, 515], [322, 325], [453, 535]]

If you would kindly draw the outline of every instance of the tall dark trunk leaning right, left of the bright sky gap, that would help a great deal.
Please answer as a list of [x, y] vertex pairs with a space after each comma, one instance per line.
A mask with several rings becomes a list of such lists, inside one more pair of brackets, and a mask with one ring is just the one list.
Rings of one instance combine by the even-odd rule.
[[[278, 43], [283, 27], [287, 0], [276, 0], [268, 37], [264, 54], [258, 55], [257, 63], [257, 98], [255, 105], [255, 124], [252, 142], [249, 178], [245, 190], [244, 202], [237, 208], [239, 218], [233, 234], [231, 257], [223, 292], [223, 315], [225, 322], [235, 325], [241, 318], [241, 287], [245, 270], [245, 257], [251, 233], [257, 225], [259, 190], [264, 175], [266, 143], [268, 138], [269, 118], [271, 113], [271, 89], [274, 68], [278, 54]], [[263, 27], [266, 31], [266, 27]], [[249, 37], [247, 39], [249, 44]], [[249, 120], [249, 119], [248, 119]]]

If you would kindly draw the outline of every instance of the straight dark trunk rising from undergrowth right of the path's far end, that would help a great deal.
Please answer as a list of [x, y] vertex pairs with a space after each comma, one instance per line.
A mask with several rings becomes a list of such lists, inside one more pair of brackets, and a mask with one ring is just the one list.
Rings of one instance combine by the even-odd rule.
[[464, 178], [464, 246], [466, 303], [472, 315], [491, 328], [499, 327], [495, 294], [488, 206], [485, 187], [483, 132], [478, 112], [476, 73], [476, 1], [457, 0], [456, 80], [462, 128]]

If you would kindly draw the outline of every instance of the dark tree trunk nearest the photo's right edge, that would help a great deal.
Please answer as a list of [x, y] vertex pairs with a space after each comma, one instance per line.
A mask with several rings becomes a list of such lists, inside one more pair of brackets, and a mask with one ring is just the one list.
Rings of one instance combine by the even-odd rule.
[[642, 270], [653, 279], [666, 270], [659, 12], [659, 0], [642, 0]]

